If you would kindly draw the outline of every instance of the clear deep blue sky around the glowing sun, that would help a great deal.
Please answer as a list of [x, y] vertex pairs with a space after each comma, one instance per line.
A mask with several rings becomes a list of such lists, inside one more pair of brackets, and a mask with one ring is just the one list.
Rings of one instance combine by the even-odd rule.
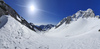
[[[100, 0], [4, 0], [28, 22], [34, 24], [57, 24], [63, 18], [79, 10], [91, 8], [100, 15]], [[34, 10], [30, 10], [30, 6]]]

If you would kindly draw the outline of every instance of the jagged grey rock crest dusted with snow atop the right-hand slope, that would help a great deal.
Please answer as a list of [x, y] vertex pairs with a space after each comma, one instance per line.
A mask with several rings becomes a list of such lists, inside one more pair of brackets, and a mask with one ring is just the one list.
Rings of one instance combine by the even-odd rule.
[[87, 9], [86, 11], [78, 11], [77, 13], [73, 14], [72, 16], [68, 16], [64, 19], [62, 19], [55, 28], [58, 28], [59, 26], [61, 26], [63, 23], [65, 24], [69, 24], [71, 21], [77, 21], [78, 18], [88, 18], [88, 17], [98, 17], [100, 18], [100, 16], [95, 16], [94, 12], [92, 9]]

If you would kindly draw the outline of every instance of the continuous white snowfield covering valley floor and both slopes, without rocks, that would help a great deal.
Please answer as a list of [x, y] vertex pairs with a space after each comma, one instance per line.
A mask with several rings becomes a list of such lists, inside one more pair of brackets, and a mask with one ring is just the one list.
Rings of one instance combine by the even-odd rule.
[[10, 15], [0, 18], [0, 49], [100, 49], [100, 19], [79, 18], [39, 35]]

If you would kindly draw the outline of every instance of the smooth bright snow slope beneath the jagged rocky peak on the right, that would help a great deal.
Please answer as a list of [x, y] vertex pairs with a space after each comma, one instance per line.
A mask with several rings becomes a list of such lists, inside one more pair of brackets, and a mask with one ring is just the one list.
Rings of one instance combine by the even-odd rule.
[[59, 28], [51, 29], [47, 36], [54, 37], [72, 37], [85, 34], [89, 31], [98, 31], [100, 29], [100, 19], [98, 18], [79, 18], [77, 21], [71, 22], [71, 24], [63, 24]]

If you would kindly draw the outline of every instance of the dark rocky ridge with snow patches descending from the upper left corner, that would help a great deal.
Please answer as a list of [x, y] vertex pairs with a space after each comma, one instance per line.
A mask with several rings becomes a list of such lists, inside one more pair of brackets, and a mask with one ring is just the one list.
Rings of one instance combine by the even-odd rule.
[[[21, 24], [27, 26], [33, 31], [40, 31], [41, 28], [38, 28], [35, 25], [31, 25], [31, 23], [28, 23], [23, 17], [21, 17], [13, 8], [11, 8], [9, 5], [7, 5], [3, 0], [0, 0], [0, 17], [2, 15], [11, 15], [13, 18], [15, 18], [17, 21], [19, 21]], [[35, 28], [35, 29], [34, 29]]]

